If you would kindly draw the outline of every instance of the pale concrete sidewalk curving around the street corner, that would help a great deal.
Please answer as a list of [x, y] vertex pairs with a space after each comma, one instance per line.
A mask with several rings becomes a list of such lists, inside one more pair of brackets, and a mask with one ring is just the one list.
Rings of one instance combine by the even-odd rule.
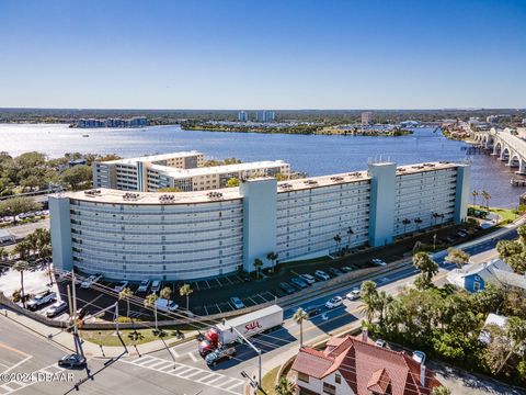
[[[73, 336], [71, 332], [66, 330], [61, 330], [59, 328], [48, 327], [44, 324], [37, 323], [34, 319], [31, 319], [22, 314], [13, 312], [11, 309], [7, 309], [4, 306], [0, 306], [0, 318], [1, 319], [10, 319], [11, 321], [24, 327], [26, 330], [32, 331], [33, 334], [41, 336], [49, 341], [53, 341], [56, 346], [65, 349], [67, 352], [75, 351], [75, 342]], [[197, 332], [187, 332], [185, 336], [191, 338], [193, 335]], [[156, 352], [159, 350], [165, 350], [167, 345], [172, 342], [173, 339], [167, 340], [155, 340], [144, 345], [134, 346], [126, 346], [127, 348], [127, 356], [144, 356], [151, 352]], [[116, 358], [125, 352], [124, 347], [111, 347], [111, 346], [99, 346], [92, 343], [87, 340], [82, 340], [82, 348], [84, 350], [84, 354], [88, 358]]]

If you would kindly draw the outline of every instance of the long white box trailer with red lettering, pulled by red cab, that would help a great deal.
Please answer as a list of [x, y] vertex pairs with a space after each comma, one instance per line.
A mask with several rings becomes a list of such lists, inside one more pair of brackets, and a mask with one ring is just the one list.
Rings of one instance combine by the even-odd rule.
[[235, 327], [244, 337], [249, 338], [281, 326], [282, 324], [283, 308], [278, 305], [272, 305], [240, 317], [228, 319], [224, 324], [218, 324], [216, 329], [219, 335], [219, 342], [221, 345], [229, 345], [238, 338], [238, 334], [231, 330], [231, 327]]

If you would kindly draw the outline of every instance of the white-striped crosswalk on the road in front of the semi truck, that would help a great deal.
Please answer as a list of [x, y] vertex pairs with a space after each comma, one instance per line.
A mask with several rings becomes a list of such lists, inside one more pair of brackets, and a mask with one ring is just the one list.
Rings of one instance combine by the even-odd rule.
[[[122, 359], [121, 362], [129, 363], [159, 373], [188, 380], [195, 383], [219, 388], [225, 393], [242, 394], [244, 381], [211, 372], [209, 370], [191, 366], [184, 363], [173, 362], [151, 356], [142, 356], [134, 359]], [[1, 395], [1, 394], [0, 394]]]

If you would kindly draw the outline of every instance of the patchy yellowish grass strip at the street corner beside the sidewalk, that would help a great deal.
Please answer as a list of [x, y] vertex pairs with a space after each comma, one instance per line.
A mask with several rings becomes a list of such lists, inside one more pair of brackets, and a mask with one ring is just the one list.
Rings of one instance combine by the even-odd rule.
[[[172, 339], [176, 337], [175, 328], [164, 328], [164, 340]], [[183, 334], [187, 330], [181, 330]], [[150, 328], [147, 329], [121, 329], [121, 338], [123, 339], [126, 346], [133, 345], [142, 345], [149, 341], [159, 340], [159, 336], [153, 334], [153, 330]], [[114, 329], [106, 330], [81, 330], [80, 336], [82, 339], [91, 341], [100, 346], [122, 346], [121, 340], [115, 335]]]

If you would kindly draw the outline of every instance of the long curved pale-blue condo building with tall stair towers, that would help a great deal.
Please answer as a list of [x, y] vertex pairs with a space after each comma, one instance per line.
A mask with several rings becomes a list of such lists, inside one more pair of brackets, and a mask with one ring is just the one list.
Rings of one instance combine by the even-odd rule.
[[[179, 193], [112, 189], [49, 196], [53, 258], [108, 279], [188, 280], [253, 271], [335, 249], [384, 246], [415, 229], [460, 223], [468, 165], [434, 162]], [[408, 223], [409, 222], [409, 223]], [[334, 236], [340, 235], [336, 245]]]

